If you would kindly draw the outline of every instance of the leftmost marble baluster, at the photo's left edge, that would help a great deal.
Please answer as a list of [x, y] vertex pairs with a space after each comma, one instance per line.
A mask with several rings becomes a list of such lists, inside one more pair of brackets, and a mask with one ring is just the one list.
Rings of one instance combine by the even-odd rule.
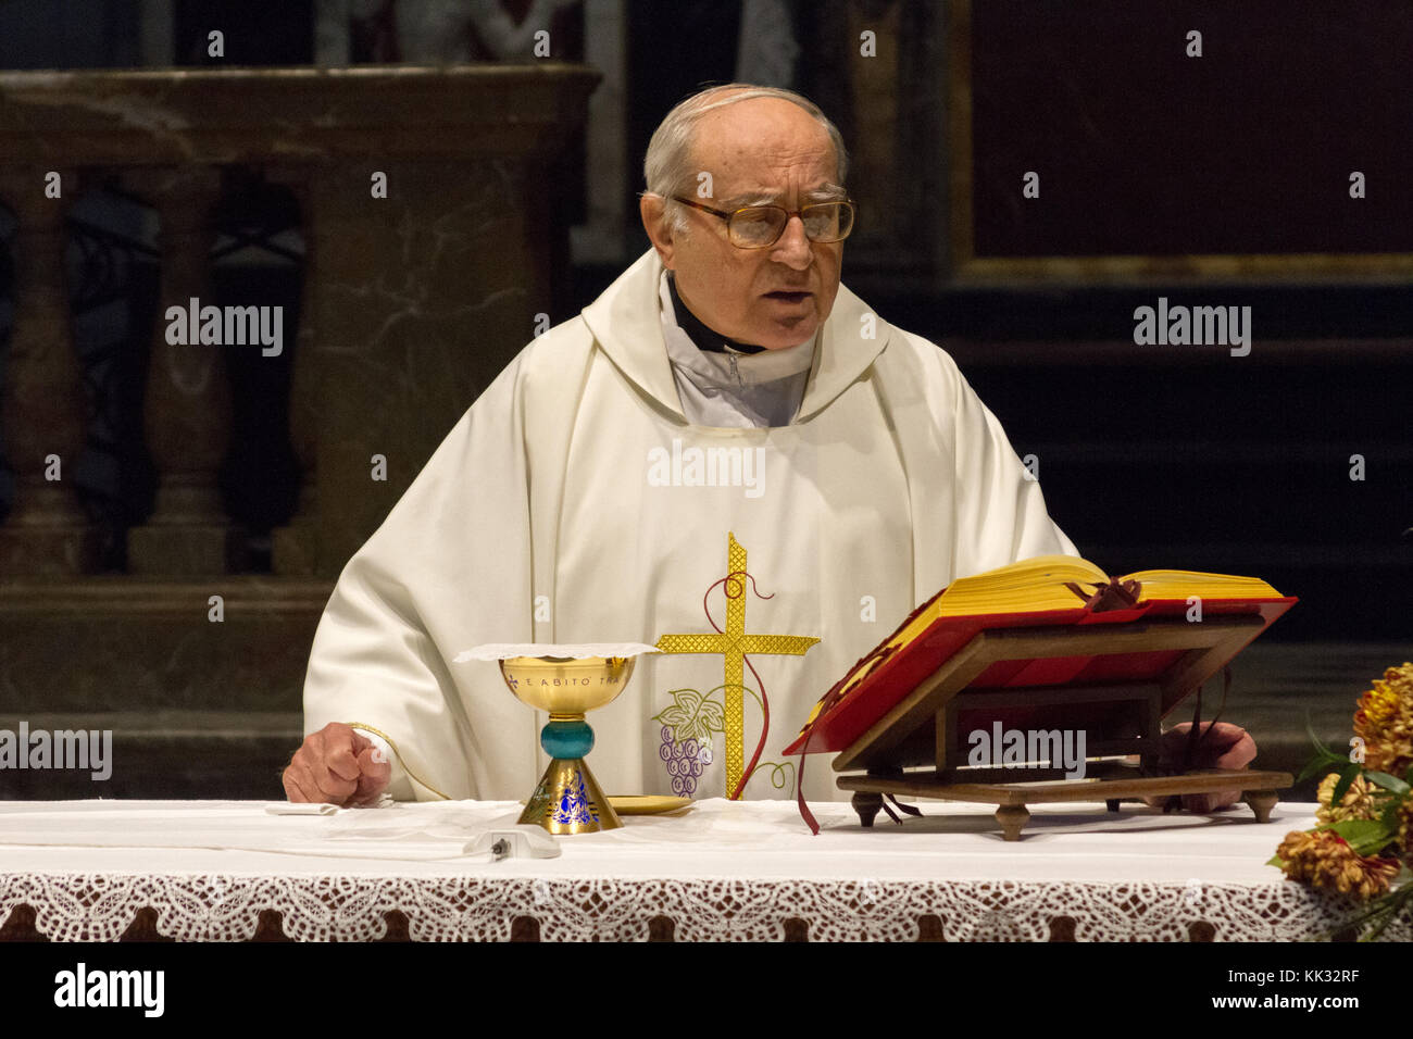
[[[47, 196], [52, 174], [61, 198]], [[64, 216], [76, 191], [75, 170], [0, 172], [0, 198], [18, 221], [14, 331], [0, 400], [16, 492], [0, 527], [0, 574], [85, 574], [97, 565], [97, 530], [73, 483], [89, 417], [64, 274]]]

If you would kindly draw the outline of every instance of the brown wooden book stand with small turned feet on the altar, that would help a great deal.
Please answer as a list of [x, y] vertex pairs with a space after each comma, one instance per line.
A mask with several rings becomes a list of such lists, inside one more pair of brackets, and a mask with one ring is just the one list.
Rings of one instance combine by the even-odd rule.
[[[1007, 841], [1020, 840], [1026, 804], [1108, 802], [1123, 797], [1217, 793], [1241, 789], [1259, 823], [1270, 821], [1276, 790], [1291, 785], [1286, 772], [1204, 769], [1159, 773], [1160, 720], [1226, 664], [1263, 629], [1260, 616], [1210, 616], [1188, 623], [1169, 618], [1068, 628], [1006, 628], [978, 633], [909, 695], [900, 700], [834, 759], [844, 790], [853, 790], [859, 821], [873, 826], [883, 794], [996, 804]], [[1180, 650], [1161, 674], [1143, 681], [1101, 686], [972, 688], [993, 663]], [[978, 725], [1010, 714], [1044, 729], [1085, 731], [1085, 777], [1064, 779], [1046, 766], [969, 768], [964, 741]], [[965, 729], [965, 731], [964, 731]], [[1098, 738], [1095, 738], [1098, 736]], [[1137, 755], [1133, 766], [1116, 755]], [[1109, 758], [1109, 761], [1092, 761]], [[917, 766], [931, 765], [931, 769]], [[913, 768], [913, 772], [906, 769]]]

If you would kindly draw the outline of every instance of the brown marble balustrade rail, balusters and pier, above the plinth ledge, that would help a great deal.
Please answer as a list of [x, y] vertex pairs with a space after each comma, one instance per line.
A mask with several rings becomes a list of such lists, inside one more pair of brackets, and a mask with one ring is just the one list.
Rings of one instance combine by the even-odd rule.
[[[555, 62], [0, 75], [0, 202], [18, 221], [0, 403], [17, 489], [0, 573], [95, 565], [72, 481], [49, 472], [83, 441], [62, 270], [81, 174], [116, 171], [157, 209], [160, 317], [203, 295], [222, 167], [252, 167], [301, 198], [308, 260], [290, 418], [305, 486], [274, 537], [274, 565], [335, 577], [530, 339], [534, 315], [554, 312], [568, 229], [554, 219], [550, 167], [596, 79]], [[239, 571], [216, 485], [230, 437], [222, 353], [165, 332], [162, 318], [143, 416], [157, 502], [127, 533], [129, 570]], [[370, 478], [373, 455], [386, 481]]]

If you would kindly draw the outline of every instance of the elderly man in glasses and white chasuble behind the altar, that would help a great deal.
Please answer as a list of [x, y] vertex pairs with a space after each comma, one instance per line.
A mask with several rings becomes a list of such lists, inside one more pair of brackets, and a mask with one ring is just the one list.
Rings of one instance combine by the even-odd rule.
[[[593, 770], [788, 797], [780, 748], [918, 602], [1074, 553], [952, 360], [839, 284], [855, 206], [818, 107], [704, 90], [644, 174], [653, 249], [526, 346], [341, 575], [291, 800], [521, 797], [544, 718], [459, 650], [716, 632], [639, 660]], [[825, 772], [805, 796], [839, 796]]]

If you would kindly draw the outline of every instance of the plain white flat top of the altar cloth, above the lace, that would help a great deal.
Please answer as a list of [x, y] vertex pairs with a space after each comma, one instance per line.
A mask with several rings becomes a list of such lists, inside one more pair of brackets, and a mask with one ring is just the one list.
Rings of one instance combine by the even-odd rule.
[[[793, 802], [695, 802], [671, 816], [626, 816], [622, 830], [560, 838], [564, 855], [547, 862], [500, 862], [528, 872], [602, 876], [876, 876], [1006, 878], [1171, 882], [1279, 881], [1265, 865], [1287, 830], [1314, 826], [1314, 804], [1279, 803], [1273, 823], [1251, 810], [1215, 816], [1102, 803], [1033, 804], [1024, 840], [1002, 841], [993, 806], [917, 802], [923, 818], [896, 826], [879, 814], [872, 830], [844, 803], [814, 803], [811, 837]], [[271, 816], [264, 802], [7, 802], [0, 803], [0, 869], [92, 869], [129, 862], [123, 850], [164, 850], [144, 858], [162, 868], [329, 872], [424, 872], [421, 864], [339, 861], [339, 850], [369, 841], [424, 845], [465, 843], [514, 826], [519, 802], [393, 802], [333, 816]], [[1219, 821], [1212, 821], [1219, 820]], [[1139, 835], [1135, 831], [1143, 831]], [[54, 845], [41, 850], [38, 845]], [[690, 851], [684, 852], [684, 845]], [[326, 862], [271, 858], [321, 847]], [[451, 868], [458, 872], [461, 865]], [[479, 867], [466, 867], [476, 868]]]

